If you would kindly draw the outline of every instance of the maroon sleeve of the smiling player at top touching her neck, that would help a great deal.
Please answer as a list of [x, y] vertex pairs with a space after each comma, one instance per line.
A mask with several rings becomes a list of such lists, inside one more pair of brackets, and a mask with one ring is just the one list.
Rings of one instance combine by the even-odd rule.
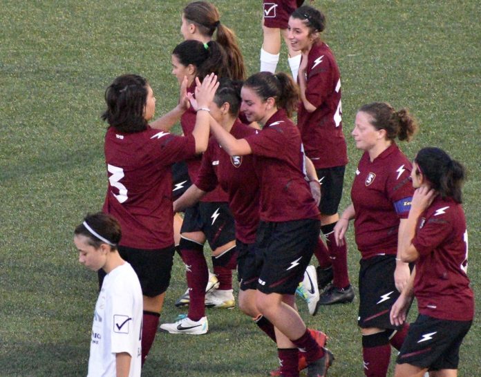
[[[321, 59], [320, 57], [317, 59]], [[313, 65], [316, 64], [314, 59]], [[305, 98], [316, 108], [326, 101], [332, 86], [330, 61], [323, 57], [322, 61], [309, 72]]]

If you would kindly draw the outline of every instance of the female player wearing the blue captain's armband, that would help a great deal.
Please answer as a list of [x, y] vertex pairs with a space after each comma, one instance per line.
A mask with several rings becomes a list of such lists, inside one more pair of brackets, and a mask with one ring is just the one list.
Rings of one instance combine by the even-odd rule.
[[402, 233], [411, 206], [411, 162], [395, 138], [409, 141], [417, 124], [408, 110], [396, 111], [385, 102], [362, 106], [352, 136], [364, 151], [352, 183], [352, 204], [334, 227], [337, 244], [344, 242], [354, 219], [359, 271], [359, 317], [366, 376], [386, 376], [390, 345], [399, 349], [407, 326], [391, 325], [389, 311], [404, 289], [410, 270], [399, 260], [398, 229]]

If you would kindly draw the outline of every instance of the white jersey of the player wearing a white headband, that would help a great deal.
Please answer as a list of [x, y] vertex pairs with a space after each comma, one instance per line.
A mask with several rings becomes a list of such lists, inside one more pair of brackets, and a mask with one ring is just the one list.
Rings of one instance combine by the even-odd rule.
[[140, 377], [142, 289], [127, 262], [108, 273], [93, 315], [88, 377], [115, 376], [115, 354], [132, 356], [129, 377]]

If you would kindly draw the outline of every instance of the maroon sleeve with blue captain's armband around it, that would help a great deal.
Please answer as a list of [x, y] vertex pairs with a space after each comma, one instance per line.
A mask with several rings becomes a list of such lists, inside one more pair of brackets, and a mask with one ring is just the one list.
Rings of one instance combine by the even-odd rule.
[[402, 168], [395, 171], [395, 174], [389, 177], [387, 190], [397, 216], [401, 219], [407, 219], [414, 193], [411, 168]]

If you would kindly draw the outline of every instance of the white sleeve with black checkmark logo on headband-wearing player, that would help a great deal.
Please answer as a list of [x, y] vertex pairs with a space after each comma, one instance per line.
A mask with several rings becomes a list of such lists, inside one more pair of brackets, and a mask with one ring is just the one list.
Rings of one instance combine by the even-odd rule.
[[113, 329], [111, 331], [111, 352], [119, 354], [127, 352], [135, 356], [135, 342], [132, 339], [139, 334], [133, 334], [133, 293], [125, 284], [117, 285], [111, 292], [110, 313], [112, 316]]

